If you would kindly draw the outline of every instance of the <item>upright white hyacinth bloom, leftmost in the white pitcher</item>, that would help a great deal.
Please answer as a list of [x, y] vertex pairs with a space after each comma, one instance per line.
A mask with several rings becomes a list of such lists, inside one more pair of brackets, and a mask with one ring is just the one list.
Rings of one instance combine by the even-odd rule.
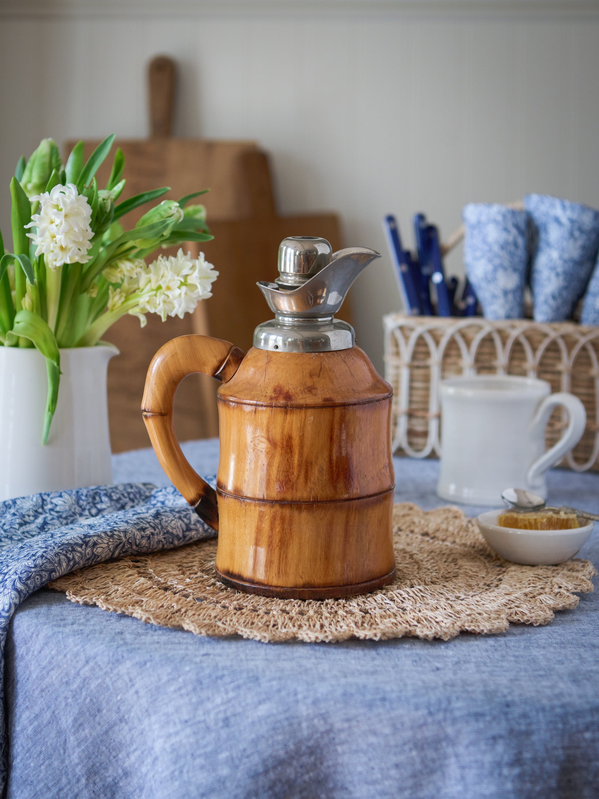
[[31, 197], [39, 201], [40, 213], [31, 217], [27, 236], [37, 245], [35, 255], [46, 258], [46, 266], [58, 269], [62, 264], [85, 264], [91, 256], [92, 209], [87, 199], [77, 193], [77, 186], [56, 185], [50, 192]]

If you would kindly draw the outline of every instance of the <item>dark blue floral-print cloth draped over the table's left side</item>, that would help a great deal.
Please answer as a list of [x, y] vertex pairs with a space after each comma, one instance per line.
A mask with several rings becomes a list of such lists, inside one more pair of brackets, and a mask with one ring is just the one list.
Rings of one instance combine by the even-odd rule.
[[18, 605], [74, 569], [214, 535], [176, 489], [149, 483], [54, 491], [0, 503], [0, 795], [6, 784], [4, 648]]

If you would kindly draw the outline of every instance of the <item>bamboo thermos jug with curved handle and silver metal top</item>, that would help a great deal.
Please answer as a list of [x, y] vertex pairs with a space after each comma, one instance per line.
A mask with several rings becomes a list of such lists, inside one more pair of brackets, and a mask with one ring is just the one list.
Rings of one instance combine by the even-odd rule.
[[[379, 253], [331, 253], [327, 240], [285, 239], [280, 276], [258, 286], [275, 319], [247, 354], [180, 336], [154, 356], [142, 411], [166, 474], [219, 532], [218, 578], [280, 598], [362, 594], [395, 575], [391, 386], [335, 320]], [[220, 380], [216, 491], [193, 471], [173, 429], [173, 399], [194, 372]]]

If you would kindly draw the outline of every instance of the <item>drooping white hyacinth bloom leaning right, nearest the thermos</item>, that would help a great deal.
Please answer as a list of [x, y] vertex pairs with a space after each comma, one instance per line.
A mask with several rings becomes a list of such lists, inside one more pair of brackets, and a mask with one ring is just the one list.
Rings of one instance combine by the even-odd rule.
[[180, 249], [176, 256], [158, 256], [141, 274], [141, 297], [136, 312], [157, 313], [164, 322], [167, 316], [179, 316], [196, 308], [200, 300], [212, 296], [210, 289], [218, 272], [200, 252], [198, 258]]

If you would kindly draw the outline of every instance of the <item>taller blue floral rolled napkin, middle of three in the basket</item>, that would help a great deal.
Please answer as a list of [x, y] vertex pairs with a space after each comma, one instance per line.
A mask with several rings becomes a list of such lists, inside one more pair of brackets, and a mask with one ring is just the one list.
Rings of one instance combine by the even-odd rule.
[[562, 322], [571, 318], [593, 272], [599, 211], [543, 194], [529, 194], [524, 205], [530, 217], [534, 319]]

